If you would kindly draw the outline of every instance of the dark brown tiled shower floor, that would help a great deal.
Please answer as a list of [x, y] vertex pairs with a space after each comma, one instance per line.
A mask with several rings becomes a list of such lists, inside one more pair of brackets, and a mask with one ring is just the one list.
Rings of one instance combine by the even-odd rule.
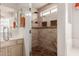
[[57, 52], [36, 46], [32, 48], [32, 56], [57, 56]]

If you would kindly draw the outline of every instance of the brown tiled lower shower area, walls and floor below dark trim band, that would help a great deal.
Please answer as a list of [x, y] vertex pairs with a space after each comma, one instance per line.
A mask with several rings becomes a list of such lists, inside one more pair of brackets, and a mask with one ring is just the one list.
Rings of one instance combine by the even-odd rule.
[[[32, 54], [34, 55], [57, 55], [57, 29], [33, 29], [32, 30]], [[35, 32], [35, 33], [34, 33]], [[39, 48], [38, 48], [39, 47]], [[43, 52], [43, 50], [46, 52]], [[49, 53], [51, 51], [52, 53]], [[46, 54], [48, 53], [48, 54]]]

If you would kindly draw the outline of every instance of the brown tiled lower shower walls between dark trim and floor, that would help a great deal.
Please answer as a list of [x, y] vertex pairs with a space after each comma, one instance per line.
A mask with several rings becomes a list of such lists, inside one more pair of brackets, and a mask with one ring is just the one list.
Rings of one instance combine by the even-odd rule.
[[57, 29], [33, 28], [32, 29], [32, 47], [41, 46], [51, 51], [57, 51]]

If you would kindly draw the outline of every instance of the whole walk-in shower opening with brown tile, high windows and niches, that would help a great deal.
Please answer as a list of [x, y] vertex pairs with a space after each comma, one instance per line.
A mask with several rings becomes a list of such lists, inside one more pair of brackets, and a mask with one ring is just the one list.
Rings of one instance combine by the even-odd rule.
[[44, 4], [33, 12], [31, 55], [57, 56], [57, 4]]

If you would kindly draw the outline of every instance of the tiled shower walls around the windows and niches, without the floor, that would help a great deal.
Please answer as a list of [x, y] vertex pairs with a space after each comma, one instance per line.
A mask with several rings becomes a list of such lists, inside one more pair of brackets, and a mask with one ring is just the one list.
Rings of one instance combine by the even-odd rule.
[[[57, 4], [48, 4], [38, 10], [36, 19], [32, 22], [32, 47], [41, 46], [45, 49], [57, 51], [57, 26], [52, 27], [51, 21], [57, 20], [57, 12], [40, 17], [40, 12]], [[35, 16], [36, 16], [35, 15]], [[34, 17], [34, 16], [33, 16]], [[46, 21], [47, 26], [42, 27], [42, 22]], [[35, 23], [37, 22], [37, 23]]]

